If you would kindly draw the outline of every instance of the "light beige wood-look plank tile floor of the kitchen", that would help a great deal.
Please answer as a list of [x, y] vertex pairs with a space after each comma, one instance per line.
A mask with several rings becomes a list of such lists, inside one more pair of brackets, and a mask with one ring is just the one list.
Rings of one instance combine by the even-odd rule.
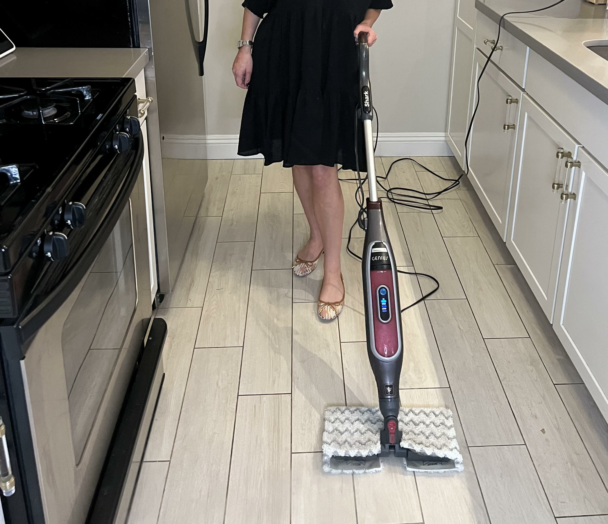
[[[450, 157], [418, 161], [460, 173]], [[444, 184], [410, 161], [388, 183]], [[401, 400], [454, 410], [465, 471], [414, 474], [389, 460], [382, 473], [322, 472], [323, 409], [378, 399], [360, 263], [344, 240], [345, 309], [321, 323], [322, 263], [291, 274], [308, 234], [292, 187], [278, 165], [209, 161], [184, 263], [157, 312], [166, 377], [129, 524], [608, 524], [608, 425], [466, 179], [438, 200], [443, 211], [385, 204], [398, 265], [441, 283], [403, 315]], [[354, 218], [355, 186], [342, 189]], [[399, 284], [402, 306], [430, 288], [410, 275]]]

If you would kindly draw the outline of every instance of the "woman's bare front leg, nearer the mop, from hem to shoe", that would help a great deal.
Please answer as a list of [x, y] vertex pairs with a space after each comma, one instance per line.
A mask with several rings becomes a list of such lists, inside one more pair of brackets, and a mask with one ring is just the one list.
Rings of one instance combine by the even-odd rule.
[[344, 296], [344, 287], [340, 278], [340, 251], [342, 251], [344, 223], [342, 188], [336, 166], [313, 166], [311, 179], [314, 217], [325, 248], [323, 288], [319, 300], [337, 302]]

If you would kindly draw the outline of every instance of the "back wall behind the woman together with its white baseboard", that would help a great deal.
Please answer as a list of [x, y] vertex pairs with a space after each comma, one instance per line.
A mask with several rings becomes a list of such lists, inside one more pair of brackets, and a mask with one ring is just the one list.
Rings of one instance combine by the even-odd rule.
[[[164, 0], [168, 1], [168, 0]], [[449, 155], [445, 142], [454, 0], [393, 0], [376, 23], [371, 49], [374, 105], [380, 121], [380, 155]], [[165, 133], [164, 156], [236, 155], [245, 92], [237, 88], [232, 61], [240, 38], [239, 0], [209, 0], [205, 61], [207, 134], [183, 122]], [[255, 65], [254, 65], [255, 67]], [[167, 136], [168, 135], [168, 136]]]

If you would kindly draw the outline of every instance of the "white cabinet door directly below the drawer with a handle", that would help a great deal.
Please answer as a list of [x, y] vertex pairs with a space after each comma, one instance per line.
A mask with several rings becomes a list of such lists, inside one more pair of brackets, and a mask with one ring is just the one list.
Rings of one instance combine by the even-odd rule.
[[500, 69], [489, 63], [475, 86], [487, 58], [475, 51], [471, 113], [479, 108], [469, 138], [469, 180], [503, 240], [506, 239], [517, 121], [522, 91]]

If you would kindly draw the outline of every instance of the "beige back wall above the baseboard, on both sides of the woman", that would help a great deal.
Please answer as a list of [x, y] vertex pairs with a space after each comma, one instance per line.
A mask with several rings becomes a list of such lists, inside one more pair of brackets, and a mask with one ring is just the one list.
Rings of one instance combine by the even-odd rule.
[[[371, 80], [385, 133], [446, 129], [454, 0], [394, 0], [375, 29]], [[230, 68], [240, 38], [243, 8], [238, 0], [210, 0], [206, 60], [207, 132], [235, 134], [244, 93]], [[255, 67], [255, 65], [254, 65]]]

